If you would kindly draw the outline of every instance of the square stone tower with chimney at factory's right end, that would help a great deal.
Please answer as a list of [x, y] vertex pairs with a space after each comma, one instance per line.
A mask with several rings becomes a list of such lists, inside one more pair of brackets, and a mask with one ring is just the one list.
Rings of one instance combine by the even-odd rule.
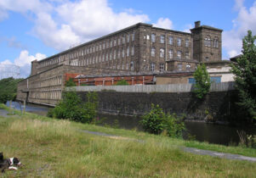
[[193, 58], [201, 63], [221, 61], [222, 39], [221, 29], [195, 22], [191, 29], [193, 39]]

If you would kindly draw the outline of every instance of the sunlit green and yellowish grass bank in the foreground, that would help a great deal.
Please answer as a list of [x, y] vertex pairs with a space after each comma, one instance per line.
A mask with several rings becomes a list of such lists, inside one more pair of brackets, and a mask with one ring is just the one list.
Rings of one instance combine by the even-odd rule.
[[[94, 136], [80, 132], [81, 129], [145, 142]], [[5, 157], [17, 156], [23, 164], [17, 171], [6, 171], [3, 177], [253, 177], [256, 174], [255, 163], [180, 150], [188, 145], [249, 153], [243, 147], [220, 148], [144, 132], [52, 120], [36, 114], [0, 117], [0, 135], [0, 152]], [[253, 149], [248, 150], [255, 154]]]

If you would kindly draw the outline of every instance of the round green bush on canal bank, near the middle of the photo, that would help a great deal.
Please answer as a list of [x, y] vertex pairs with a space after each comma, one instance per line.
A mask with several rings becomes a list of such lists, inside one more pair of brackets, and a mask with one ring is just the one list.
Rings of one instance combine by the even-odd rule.
[[184, 122], [176, 114], [165, 114], [158, 104], [151, 104], [151, 111], [142, 116], [141, 124], [145, 131], [161, 134], [163, 131], [168, 136], [181, 137], [185, 130]]

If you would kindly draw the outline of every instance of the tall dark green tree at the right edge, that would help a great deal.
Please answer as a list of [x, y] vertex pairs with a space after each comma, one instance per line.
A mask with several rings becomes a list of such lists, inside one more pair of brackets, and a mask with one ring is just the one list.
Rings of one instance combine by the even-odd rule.
[[247, 118], [256, 120], [256, 36], [247, 32], [242, 40], [242, 56], [231, 64], [239, 95], [237, 103]]

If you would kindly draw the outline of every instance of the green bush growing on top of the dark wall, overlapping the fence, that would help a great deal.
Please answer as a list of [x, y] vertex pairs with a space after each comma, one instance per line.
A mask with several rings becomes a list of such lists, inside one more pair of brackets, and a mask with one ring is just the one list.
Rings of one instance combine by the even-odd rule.
[[198, 65], [194, 73], [196, 85], [193, 91], [196, 97], [202, 99], [210, 90], [211, 79], [206, 69], [205, 64]]

